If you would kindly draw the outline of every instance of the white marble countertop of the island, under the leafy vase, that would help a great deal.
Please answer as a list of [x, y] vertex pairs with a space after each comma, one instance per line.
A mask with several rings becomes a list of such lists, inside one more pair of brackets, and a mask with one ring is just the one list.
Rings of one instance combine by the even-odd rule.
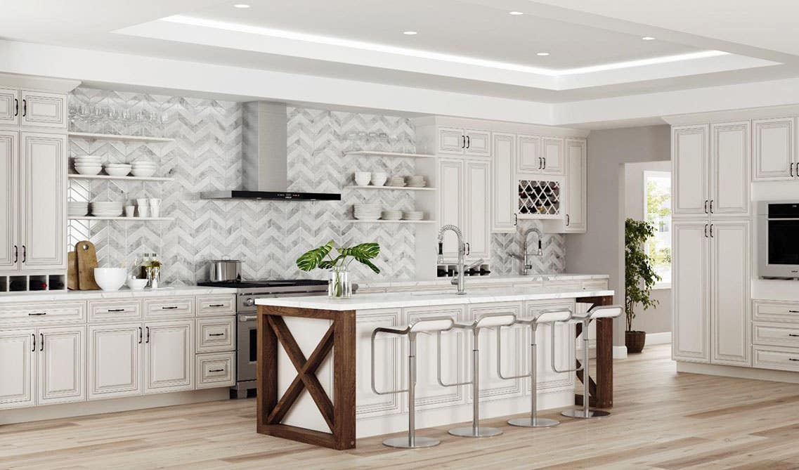
[[329, 297], [260, 298], [256, 299], [255, 303], [256, 305], [295, 307], [298, 309], [345, 311], [486, 304], [492, 302], [545, 301], [612, 295], [614, 295], [612, 290], [574, 290], [558, 287], [471, 290], [467, 288], [467, 293], [462, 296], [457, 295], [454, 290], [451, 293], [356, 293], [349, 299], [332, 299]]

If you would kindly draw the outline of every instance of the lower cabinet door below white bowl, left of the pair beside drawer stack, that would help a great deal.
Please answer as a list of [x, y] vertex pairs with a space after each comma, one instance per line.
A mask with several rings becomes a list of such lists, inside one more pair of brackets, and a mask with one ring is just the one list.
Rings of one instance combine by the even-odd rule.
[[141, 323], [89, 326], [89, 400], [141, 395]]

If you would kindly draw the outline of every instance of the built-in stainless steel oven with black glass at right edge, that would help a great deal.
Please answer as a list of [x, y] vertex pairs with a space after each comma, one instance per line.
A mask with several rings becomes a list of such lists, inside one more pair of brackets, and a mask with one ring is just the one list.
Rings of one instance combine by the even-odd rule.
[[757, 274], [799, 278], [799, 201], [757, 203]]

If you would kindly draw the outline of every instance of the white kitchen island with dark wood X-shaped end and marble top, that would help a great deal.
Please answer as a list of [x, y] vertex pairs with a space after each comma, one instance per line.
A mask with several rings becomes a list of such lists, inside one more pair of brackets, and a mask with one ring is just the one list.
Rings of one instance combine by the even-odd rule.
[[[328, 448], [354, 448], [357, 437], [400, 432], [407, 427], [404, 394], [377, 395], [371, 387], [372, 331], [400, 327], [427, 317], [469, 321], [487, 313], [529, 317], [543, 309], [586, 311], [610, 305], [610, 290], [569, 288], [473, 289], [452, 293], [360, 294], [347, 300], [327, 297], [260, 298], [258, 305], [257, 431]], [[590, 403], [613, 405], [613, 328], [611, 319], [596, 325], [597, 372], [590, 384]], [[547, 325], [538, 330], [539, 408], [582, 403], [575, 400], [574, 338], [578, 325], [555, 327], [555, 344]], [[502, 330], [503, 373], [527, 371], [529, 328]], [[443, 379], [468, 379], [469, 338], [463, 331], [442, 337]], [[279, 347], [278, 345], [282, 346]], [[481, 335], [479, 400], [483, 416], [505, 416], [529, 410], [529, 380], [501, 380], [496, 373], [497, 335]], [[376, 384], [380, 389], [403, 388], [407, 343], [384, 337], [376, 343]], [[555, 354], [553, 357], [552, 354]], [[416, 384], [419, 428], [470, 419], [470, 389], [444, 388], [436, 378], [435, 337], [420, 337]], [[582, 380], [582, 374], [576, 375]]]

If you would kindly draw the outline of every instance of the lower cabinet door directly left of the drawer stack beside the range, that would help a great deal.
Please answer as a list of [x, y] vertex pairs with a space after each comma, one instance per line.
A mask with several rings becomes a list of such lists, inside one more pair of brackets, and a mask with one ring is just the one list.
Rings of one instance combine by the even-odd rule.
[[194, 321], [145, 323], [145, 394], [194, 388]]

